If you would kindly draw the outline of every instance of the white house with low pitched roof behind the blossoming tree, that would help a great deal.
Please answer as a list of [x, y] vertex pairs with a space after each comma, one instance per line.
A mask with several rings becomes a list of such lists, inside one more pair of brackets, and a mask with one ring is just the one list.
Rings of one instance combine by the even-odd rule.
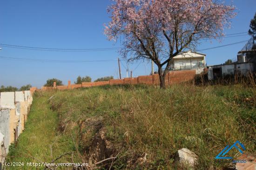
[[172, 70], [202, 69], [205, 67], [205, 54], [187, 51], [173, 57], [171, 61]]

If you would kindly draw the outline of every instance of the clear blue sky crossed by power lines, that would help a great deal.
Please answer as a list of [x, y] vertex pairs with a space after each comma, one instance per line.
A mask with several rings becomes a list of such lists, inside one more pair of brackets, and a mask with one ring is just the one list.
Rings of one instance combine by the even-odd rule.
[[[103, 34], [103, 24], [109, 21], [107, 6], [110, 0], [4, 0], [0, 5], [0, 44], [14, 44], [45, 48], [112, 48], [120, 44], [109, 42]], [[231, 1], [227, 0], [230, 4]], [[256, 0], [234, 0], [238, 8], [226, 34], [249, 30], [249, 21], [256, 13]], [[254, 6], [254, 7], [253, 7]], [[249, 36], [224, 38], [202, 42], [198, 49], [248, 40]], [[224, 63], [236, 57], [244, 44], [205, 50], [208, 65]], [[115, 50], [90, 52], [60, 52], [23, 50], [1, 47], [0, 56], [49, 60], [115, 60], [120, 57]], [[150, 63], [128, 64], [133, 76], [148, 75]], [[122, 76], [127, 64], [122, 61]], [[135, 69], [137, 67], [137, 69]], [[134, 70], [135, 69], [135, 70]], [[156, 67], [155, 67], [156, 70]], [[0, 85], [20, 87], [30, 83], [40, 88], [48, 78], [58, 78], [67, 84], [77, 76], [118, 77], [117, 61], [94, 63], [41, 63], [0, 59]]]

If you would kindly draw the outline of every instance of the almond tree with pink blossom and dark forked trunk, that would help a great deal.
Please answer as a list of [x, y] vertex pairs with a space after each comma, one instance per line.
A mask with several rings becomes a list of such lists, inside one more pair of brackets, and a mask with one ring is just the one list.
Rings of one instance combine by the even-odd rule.
[[[121, 55], [128, 61], [152, 60], [165, 88], [171, 60], [196, 49], [202, 38], [220, 38], [230, 25], [235, 7], [213, 0], [114, 0], [111, 21], [105, 25], [109, 40], [121, 37]], [[163, 66], [166, 66], [163, 70]]]

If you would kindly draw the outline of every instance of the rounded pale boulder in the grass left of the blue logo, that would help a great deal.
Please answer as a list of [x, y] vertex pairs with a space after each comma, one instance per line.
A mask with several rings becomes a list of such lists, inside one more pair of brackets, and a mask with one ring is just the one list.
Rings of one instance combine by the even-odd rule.
[[180, 166], [189, 167], [190, 170], [194, 170], [197, 164], [198, 156], [187, 148], [182, 148], [177, 151], [175, 160]]

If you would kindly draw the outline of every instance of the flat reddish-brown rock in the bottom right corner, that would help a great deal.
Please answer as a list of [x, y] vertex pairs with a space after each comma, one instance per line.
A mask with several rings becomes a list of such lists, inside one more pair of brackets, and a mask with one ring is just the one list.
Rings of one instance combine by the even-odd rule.
[[[236, 170], [256, 170], [256, 157], [250, 155], [242, 155], [237, 160], [245, 160], [246, 163], [236, 163]], [[243, 161], [243, 162], [245, 162]]]

